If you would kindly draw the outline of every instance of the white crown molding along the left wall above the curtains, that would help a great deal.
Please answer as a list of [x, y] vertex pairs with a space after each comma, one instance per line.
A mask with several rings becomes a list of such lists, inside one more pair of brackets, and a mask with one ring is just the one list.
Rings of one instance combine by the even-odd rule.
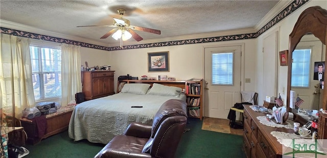
[[75, 40], [75, 41], [79, 41], [79, 42], [92, 43], [92, 44], [96, 44], [99, 46], [108, 46], [108, 43], [98, 42], [95, 40], [85, 39], [85, 38], [81, 38], [81, 37], [77, 37], [77, 36], [69, 36], [69, 35], [64, 35], [64, 34], [60, 34], [60, 33], [56, 33], [56, 32], [46, 31], [46, 30], [42, 30], [39, 28], [22, 25], [22, 24], [12, 22], [12, 21], [0, 19], [0, 24], [1, 24], [1, 27], [4, 27], [4, 28], [10, 28], [10, 29], [19, 30], [19, 31], [26, 31], [26, 32], [30, 32], [30, 33], [52, 36], [52, 37], [56, 37], [56, 38]]

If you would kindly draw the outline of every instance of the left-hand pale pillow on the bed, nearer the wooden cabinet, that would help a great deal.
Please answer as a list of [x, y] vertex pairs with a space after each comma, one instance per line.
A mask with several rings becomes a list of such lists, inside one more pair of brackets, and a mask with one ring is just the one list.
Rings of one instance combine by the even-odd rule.
[[145, 95], [149, 87], [150, 84], [146, 84], [146, 83], [126, 83], [124, 84], [121, 93]]

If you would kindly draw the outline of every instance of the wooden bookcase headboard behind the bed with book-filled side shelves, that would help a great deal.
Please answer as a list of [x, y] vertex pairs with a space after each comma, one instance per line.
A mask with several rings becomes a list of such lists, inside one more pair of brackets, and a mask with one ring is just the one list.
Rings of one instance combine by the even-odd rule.
[[197, 80], [176, 80], [176, 81], [162, 81], [162, 80], [119, 80], [117, 82], [116, 93], [120, 93], [125, 83], [158, 83], [168, 86], [176, 86], [185, 89], [186, 103], [188, 103], [188, 116], [191, 118], [198, 118], [202, 120], [203, 112], [203, 87], [202, 79]]

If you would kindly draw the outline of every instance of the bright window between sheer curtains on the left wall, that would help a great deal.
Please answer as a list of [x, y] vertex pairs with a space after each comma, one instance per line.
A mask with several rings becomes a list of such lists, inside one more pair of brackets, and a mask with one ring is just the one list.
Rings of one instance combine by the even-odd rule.
[[35, 100], [61, 97], [61, 50], [30, 46]]

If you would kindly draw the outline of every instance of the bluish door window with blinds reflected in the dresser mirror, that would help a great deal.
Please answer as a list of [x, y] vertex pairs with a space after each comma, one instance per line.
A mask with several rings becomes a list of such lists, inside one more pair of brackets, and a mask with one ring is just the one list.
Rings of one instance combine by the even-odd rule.
[[292, 53], [292, 87], [309, 87], [311, 49], [297, 49]]

